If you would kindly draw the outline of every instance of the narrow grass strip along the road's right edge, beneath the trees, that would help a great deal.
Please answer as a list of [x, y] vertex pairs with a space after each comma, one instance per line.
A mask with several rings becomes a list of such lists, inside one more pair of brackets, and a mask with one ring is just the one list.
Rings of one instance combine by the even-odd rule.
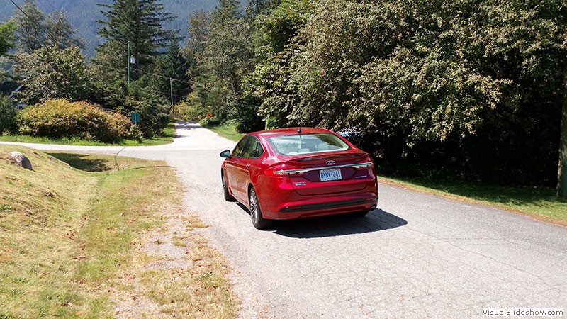
[[567, 198], [557, 198], [555, 189], [551, 188], [387, 177], [381, 177], [381, 182], [407, 186], [417, 191], [425, 191], [459, 201], [503, 208], [551, 223], [567, 225]]

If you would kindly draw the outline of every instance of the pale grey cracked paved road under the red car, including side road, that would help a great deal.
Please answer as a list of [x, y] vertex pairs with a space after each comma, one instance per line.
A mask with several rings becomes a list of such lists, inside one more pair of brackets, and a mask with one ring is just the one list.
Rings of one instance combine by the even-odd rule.
[[472, 318], [483, 307], [567, 310], [567, 228], [483, 206], [380, 186], [366, 218], [318, 218], [255, 230], [223, 201], [221, 150], [193, 123], [154, 147], [28, 145], [164, 159], [186, 184], [187, 212], [235, 269], [241, 318]]

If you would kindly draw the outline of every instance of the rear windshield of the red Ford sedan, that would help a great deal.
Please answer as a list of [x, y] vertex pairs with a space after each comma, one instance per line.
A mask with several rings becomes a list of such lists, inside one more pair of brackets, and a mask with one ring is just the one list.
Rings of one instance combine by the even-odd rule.
[[278, 136], [268, 142], [281, 155], [310, 154], [349, 150], [349, 145], [331, 133]]

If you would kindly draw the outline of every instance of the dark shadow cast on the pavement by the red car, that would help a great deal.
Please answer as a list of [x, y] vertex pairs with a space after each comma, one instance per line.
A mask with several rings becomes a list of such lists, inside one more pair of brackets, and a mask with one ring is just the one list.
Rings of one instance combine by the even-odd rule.
[[[237, 203], [246, 213], [248, 209]], [[293, 238], [333, 237], [352, 234], [373, 233], [407, 225], [408, 221], [381, 209], [371, 211], [364, 217], [335, 215], [296, 220], [277, 220], [268, 231]], [[250, 223], [252, 226], [252, 222]]]

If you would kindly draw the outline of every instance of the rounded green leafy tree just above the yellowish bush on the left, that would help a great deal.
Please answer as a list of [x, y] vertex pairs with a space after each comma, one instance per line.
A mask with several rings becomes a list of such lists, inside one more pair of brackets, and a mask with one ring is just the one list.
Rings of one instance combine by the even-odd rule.
[[89, 96], [90, 79], [79, 47], [60, 50], [55, 45], [17, 55], [16, 72], [26, 90], [23, 101], [40, 103], [62, 98], [82, 101]]

